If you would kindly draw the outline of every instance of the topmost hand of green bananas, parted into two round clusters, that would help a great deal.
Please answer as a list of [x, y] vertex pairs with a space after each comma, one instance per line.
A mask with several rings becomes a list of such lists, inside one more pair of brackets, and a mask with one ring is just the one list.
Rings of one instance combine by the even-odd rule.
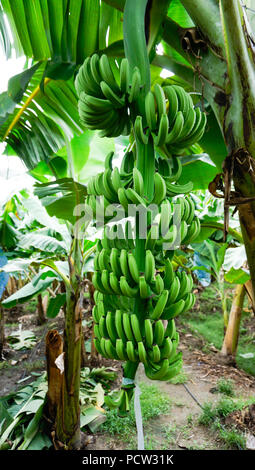
[[[132, 104], [142, 88], [138, 67], [131, 71], [128, 60], [123, 59], [118, 83], [108, 57], [93, 54], [81, 66], [75, 86], [79, 115], [88, 129], [100, 130], [101, 137], [130, 134]], [[144, 145], [152, 134], [157, 147], [167, 155], [178, 155], [200, 140], [205, 125], [205, 114], [194, 108], [182, 87], [156, 84], [145, 97], [145, 116], [136, 116], [134, 130]]]

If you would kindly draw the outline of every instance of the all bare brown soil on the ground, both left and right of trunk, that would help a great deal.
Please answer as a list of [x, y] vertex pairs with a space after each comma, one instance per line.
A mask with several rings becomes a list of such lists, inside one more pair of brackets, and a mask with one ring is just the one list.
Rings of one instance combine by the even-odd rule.
[[[84, 313], [86, 316], [86, 312]], [[45, 325], [37, 325], [35, 313], [24, 314], [21, 309], [16, 309], [12, 315], [8, 313], [6, 337], [18, 329], [33, 330], [37, 337], [37, 344], [32, 350], [14, 351], [8, 343], [5, 347], [5, 362], [0, 363], [0, 395], [6, 395], [17, 390], [21, 384], [34, 380], [31, 371], [45, 370], [45, 336], [49, 329], [63, 331], [63, 314], [56, 319], [48, 321]], [[89, 336], [89, 332], [85, 333]], [[204, 342], [188, 330], [180, 334], [180, 349], [183, 351], [184, 373], [187, 376], [185, 383], [173, 385], [165, 382], [154, 382], [160, 391], [166, 393], [172, 402], [168, 415], [161, 415], [157, 419], [146, 423], [146, 434], [151, 436], [154, 449], [224, 449], [224, 445], [217, 438], [217, 434], [197, 422], [201, 414], [201, 406], [205, 402], [216, 402], [219, 394], [215, 393], [217, 381], [220, 377], [231, 378], [234, 383], [236, 396], [250, 397], [255, 393], [255, 378], [246, 374], [234, 366], [221, 364], [219, 352], [214, 347], [209, 347], [205, 353]], [[112, 366], [118, 372], [118, 379], [114, 388], [118, 388], [121, 381], [121, 365], [117, 361], [102, 360], [100, 365]], [[92, 364], [98, 365], [97, 361]], [[149, 383], [143, 367], [138, 370], [138, 380]], [[22, 382], [20, 382], [22, 381]], [[254, 410], [253, 410], [254, 411]], [[231, 419], [231, 417], [230, 417]], [[242, 421], [245, 418], [239, 415], [233, 416], [233, 420]], [[247, 424], [247, 423], [246, 423]], [[166, 436], [163, 429], [169, 427], [172, 432]], [[240, 428], [241, 429], [241, 428]], [[255, 429], [255, 428], [254, 428]], [[251, 431], [254, 431], [252, 428]], [[128, 449], [129, 445], [122, 442], [118, 436], [110, 436], [97, 432], [88, 436], [87, 449]]]

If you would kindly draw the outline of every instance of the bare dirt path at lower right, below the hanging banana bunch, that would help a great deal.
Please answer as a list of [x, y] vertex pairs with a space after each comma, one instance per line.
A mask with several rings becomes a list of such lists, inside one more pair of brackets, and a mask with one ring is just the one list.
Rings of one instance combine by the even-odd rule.
[[[200, 347], [199, 339], [187, 335], [181, 338], [183, 350], [183, 377], [185, 383], [172, 384], [155, 381], [160, 392], [171, 399], [169, 414], [160, 415], [146, 422], [144, 434], [147, 437], [147, 449], [197, 449], [223, 450], [224, 444], [216, 432], [212, 432], [198, 423], [205, 403], [216, 403], [220, 394], [215, 393], [219, 378], [231, 378], [236, 398], [248, 398], [255, 395], [255, 379], [235, 367], [219, 364], [216, 350], [205, 354]], [[191, 349], [192, 344], [192, 349]], [[137, 375], [138, 383], [151, 384], [140, 365]], [[188, 390], [187, 390], [188, 389]], [[190, 393], [193, 397], [190, 395]], [[199, 404], [198, 404], [199, 403]], [[109, 436], [97, 433], [88, 449], [130, 449], [129, 443], [122, 442], [121, 436]]]

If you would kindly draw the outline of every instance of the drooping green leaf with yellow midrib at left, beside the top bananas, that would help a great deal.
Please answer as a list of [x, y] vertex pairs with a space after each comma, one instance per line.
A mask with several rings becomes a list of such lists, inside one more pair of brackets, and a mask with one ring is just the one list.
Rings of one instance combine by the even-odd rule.
[[73, 80], [44, 81], [45, 64], [33, 74], [18, 106], [0, 129], [7, 141], [29, 169], [40, 161], [49, 161], [68, 138], [82, 132]]

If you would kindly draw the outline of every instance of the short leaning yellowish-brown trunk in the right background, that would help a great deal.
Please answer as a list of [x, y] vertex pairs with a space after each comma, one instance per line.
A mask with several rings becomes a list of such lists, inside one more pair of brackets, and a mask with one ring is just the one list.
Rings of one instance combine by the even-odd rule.
[[236, 354], [244, 297], [245, 287], [243, 284], [239, 284], [236, 286], [228, 326], [221, 349], [223, 356], [235, 356]]

